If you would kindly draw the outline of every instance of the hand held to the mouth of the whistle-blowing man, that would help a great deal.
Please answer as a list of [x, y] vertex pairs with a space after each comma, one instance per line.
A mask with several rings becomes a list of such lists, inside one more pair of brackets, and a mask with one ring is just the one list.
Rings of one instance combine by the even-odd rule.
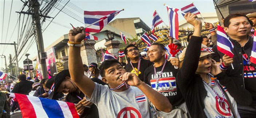
[[120, 76], [123, 81], [127, 81], [127, 84], [137, 87], [142, 83], [139, 77], [135, 73], [126, 72]]

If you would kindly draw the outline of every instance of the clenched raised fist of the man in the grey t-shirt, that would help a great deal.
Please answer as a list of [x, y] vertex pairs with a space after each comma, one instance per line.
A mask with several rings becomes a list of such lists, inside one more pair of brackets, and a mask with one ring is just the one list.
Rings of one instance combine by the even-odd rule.
[[82, 42], [85, 36], [86, 36], [86, 33], [83, 27], [73, 28], [72, 30], [69, 30], [69, 33], [68, 33], [68, 39], [70, 42], [78, 42], [78, 43]]

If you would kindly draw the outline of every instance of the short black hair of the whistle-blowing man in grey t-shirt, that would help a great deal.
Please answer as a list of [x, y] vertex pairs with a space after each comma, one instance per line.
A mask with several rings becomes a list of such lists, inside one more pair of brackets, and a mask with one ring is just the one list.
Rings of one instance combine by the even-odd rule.
[[120, 64], [122, 66], [122, 64], [120, 62], [118, 62], [117, 59], [109, 59], [109, 60], [105, 60], [104, 62], [102, 62], [101, 66], [99, 67], [99, 74], [102, 77], [105, 77], [105, 70], [111, 66], [113, 66], [114, 64]]

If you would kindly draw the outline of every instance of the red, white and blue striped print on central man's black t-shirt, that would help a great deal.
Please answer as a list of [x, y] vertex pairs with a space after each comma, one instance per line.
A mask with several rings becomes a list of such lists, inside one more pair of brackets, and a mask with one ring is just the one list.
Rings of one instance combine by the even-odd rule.
[[174, 92], [177, 90], [175, 77], [160, 78], [150, 80], [151, 88], [158, 92]]

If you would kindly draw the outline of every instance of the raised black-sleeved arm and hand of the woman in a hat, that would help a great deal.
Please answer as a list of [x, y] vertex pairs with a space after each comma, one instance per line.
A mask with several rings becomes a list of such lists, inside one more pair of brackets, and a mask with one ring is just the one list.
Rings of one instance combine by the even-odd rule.
[[202, 22], [197, 19], [195, 14], [186, 13], [184, 18], [187, 22], [195, 27], [194, 33], [190, 39], [189, 45], [186, 49], [184, 62], [177, 75], [177, 83], [182, 93], [187, 92], [189, 85], [192, 83], [191, 77], [196, 73], [198, 67], [198, 60], [201, 53], [201, 29]]

